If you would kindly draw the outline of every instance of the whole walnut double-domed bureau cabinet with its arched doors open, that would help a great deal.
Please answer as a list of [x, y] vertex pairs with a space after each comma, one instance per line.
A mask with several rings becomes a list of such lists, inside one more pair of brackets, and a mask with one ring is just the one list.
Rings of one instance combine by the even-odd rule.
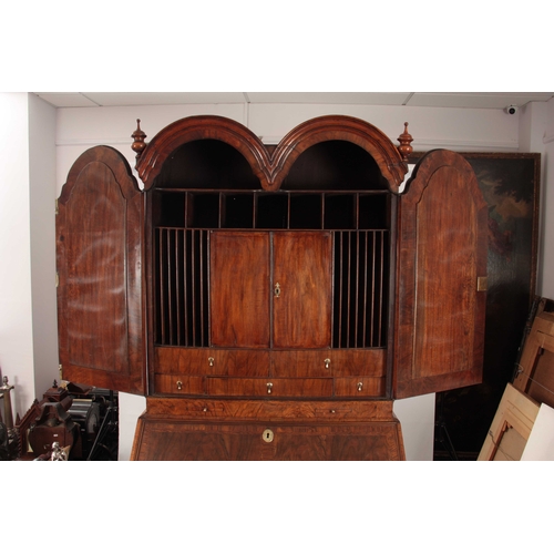
[[348, 116], [278, 145], [219, 116], [73, 164], [64, 379], [146, 396], [135, 460], [401, 460], [397, 398], [480, 382], [486, 206], [470, 165]]

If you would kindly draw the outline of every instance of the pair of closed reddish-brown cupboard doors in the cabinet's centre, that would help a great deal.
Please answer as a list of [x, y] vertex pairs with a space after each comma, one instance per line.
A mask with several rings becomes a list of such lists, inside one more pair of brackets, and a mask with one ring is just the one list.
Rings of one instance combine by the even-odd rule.
[[209, 248], [212, 346], [330, 346], [330, 233], [214, 230]]

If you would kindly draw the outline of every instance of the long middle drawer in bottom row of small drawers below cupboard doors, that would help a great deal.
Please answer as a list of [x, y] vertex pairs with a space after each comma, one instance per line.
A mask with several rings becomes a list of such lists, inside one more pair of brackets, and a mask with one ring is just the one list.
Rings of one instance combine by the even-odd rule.
[[225, 397], [332, 397], [332, 379], [235, 379], [209, 377], [206, 379], [209, 396]]

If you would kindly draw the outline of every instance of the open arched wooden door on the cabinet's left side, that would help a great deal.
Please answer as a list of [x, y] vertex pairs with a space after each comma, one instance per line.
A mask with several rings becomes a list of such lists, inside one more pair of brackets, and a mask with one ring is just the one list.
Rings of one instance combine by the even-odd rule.
[[144, 394], [144, 204], [126, 160], [96, 146], [73, 164], [58, 201], [62, 377]]

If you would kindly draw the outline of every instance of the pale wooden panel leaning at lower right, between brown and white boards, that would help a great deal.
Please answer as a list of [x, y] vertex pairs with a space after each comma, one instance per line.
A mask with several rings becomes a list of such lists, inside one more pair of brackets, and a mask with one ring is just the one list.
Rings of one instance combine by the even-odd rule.
[[507, 383], [478, 461], [521, 460], [538, 408], [538, 402]]

